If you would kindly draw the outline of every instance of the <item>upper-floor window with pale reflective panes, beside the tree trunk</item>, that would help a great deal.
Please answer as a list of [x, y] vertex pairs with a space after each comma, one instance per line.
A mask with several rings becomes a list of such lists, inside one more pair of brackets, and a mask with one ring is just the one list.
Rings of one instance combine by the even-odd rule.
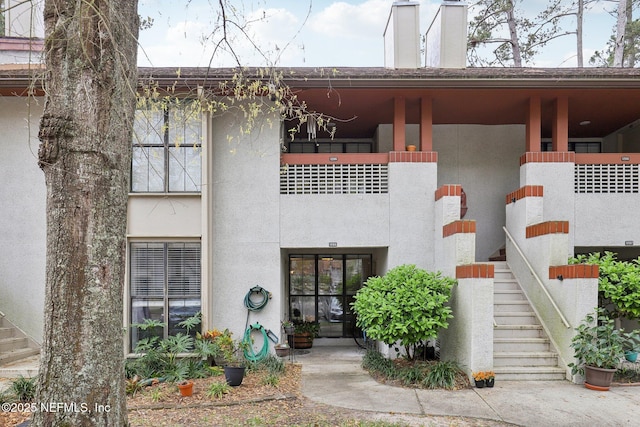
[[199, 192], [202, 121], [195, 104], [137, 109], [133, 125], [131, 191]]

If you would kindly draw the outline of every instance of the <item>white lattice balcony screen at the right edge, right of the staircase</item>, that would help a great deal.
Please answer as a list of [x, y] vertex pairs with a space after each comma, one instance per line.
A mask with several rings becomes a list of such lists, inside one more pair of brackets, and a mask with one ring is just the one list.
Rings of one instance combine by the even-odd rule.
[[576, 165], [576, 193], [637, 193], [637, 164]]

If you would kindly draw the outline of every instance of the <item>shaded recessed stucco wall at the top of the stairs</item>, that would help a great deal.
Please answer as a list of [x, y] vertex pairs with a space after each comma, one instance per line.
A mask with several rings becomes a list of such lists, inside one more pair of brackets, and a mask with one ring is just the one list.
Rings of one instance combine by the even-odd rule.
[[524, 125], [436, 125], [438, 187], [460, 184], [467, 194], [464, 219], [476, 220], [476, 260], [504, 246], [505, 196], [519, 187]]

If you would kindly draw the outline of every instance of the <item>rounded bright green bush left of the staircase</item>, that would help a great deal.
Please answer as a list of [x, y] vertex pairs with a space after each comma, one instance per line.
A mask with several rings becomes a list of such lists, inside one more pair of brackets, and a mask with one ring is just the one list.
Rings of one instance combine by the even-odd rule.
[[455, 279], [400, 265], [383, 277], [371, 277], [352, 303], [357, 325], [371, 339], [391, 345], [399, 342], [407, 358], [428, 339], [436, 338], [452, 318], [446, 305]]

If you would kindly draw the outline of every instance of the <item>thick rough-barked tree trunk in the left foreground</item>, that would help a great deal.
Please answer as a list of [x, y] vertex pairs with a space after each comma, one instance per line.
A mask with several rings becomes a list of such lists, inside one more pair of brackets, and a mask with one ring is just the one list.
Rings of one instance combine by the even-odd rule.
[[46, 0], [44, 337], [33, 426], [123, 426], [137, 0]]

